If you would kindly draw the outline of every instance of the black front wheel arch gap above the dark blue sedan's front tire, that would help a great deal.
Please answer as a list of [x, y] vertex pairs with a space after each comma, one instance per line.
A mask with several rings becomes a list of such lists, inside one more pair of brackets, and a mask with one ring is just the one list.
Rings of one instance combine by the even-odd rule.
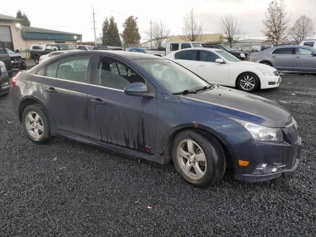
[[226, 139], [223, 136], [221, 136], [221, 134], [216, 132], [215, 130], [213, 130], [207, 126], [201, 125], [201, 124], [198, 124], [197, 127], [192, 127], [192, 124], [191, 124], [191, 126], [188, 126], [188, 125], [182, 126], [182, 127], [178, 128], [177, 130], [175, 130], [169, 134], [169, 136], [164, 144], [164, 148], [163, 148], [164, 163], [169, 163], [172, 160], [172, 143], [173, 143], [175, 136], [177, 134], [179, 134], [180, 132], [186, 131], [186, 130], [196, 131], [196, 132], [202, 133], [206, 136], [215, 137], [219, 141], [219, 143], [221, 144], [221, 146], [225, 152], [225, 158], [226, 158], [227, 164], [229, 164], [229, 166], [231, 166], [230, 164], [232, 164], [232, 162], [233, 162], [232, 161], [232, 154], [227, 147], [228, 142], [226, 141]]

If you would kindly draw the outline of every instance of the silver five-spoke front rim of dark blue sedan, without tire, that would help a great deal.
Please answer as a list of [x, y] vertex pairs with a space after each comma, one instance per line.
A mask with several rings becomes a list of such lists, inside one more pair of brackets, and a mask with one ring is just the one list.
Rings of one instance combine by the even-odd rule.
[[201, 147], [191, 139], [185, 139], [177, 148], [177, 159], [181, 170], [189, 178], [200, 180], [207, 168], [206, 157]]

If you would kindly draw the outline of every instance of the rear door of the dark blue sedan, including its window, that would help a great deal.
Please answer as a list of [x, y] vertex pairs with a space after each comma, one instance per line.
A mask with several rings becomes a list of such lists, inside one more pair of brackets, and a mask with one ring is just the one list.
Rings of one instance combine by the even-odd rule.
[[46, 66], [45, 104], [60, 131], [89, 136], [88, 102], [91, 55], [64, 57]]

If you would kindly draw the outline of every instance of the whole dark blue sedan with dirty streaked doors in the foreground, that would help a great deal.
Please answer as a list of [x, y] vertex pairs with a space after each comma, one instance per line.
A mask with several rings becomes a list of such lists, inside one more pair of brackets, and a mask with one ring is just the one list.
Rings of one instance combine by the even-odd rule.
[[[210, 75], [212, 77], [212, 75]], [[125, 51], [55, 56], [11, 80], [13, 108], [35, 143], [64, 136], [158, 163], [208, 187], [296, 169], [294, 118], [259, 96], [210, 85], [161, 57]]]

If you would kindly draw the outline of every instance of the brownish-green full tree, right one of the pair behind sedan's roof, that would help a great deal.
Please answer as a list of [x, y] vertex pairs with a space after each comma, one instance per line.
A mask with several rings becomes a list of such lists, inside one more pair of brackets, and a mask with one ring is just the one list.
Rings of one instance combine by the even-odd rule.
[[125, 44], [138, 44], [141, 37], [137, 26], [137, 17], [129, 16], [123, 23], [122, 38]]

